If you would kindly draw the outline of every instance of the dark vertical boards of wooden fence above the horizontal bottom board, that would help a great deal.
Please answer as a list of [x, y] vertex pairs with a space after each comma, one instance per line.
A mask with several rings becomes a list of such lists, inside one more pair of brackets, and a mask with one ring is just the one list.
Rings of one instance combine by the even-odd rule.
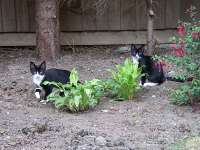
[[[74, 0], [70, 5], [64, 3], [60, 10], [61, 31], [66, 34], [73, 32], [79, 36], [80, 32], [114, 34], [114, 32], [146, 29], [145, 0], [107, 1], [107, 5], [103, 6], [104, 9], [101, 7], [98, 9], [94, 5], [94, 0]], [[0, 36], [5, 33], [34, 33], [34, 2], [34, 0], [0, 0]], [[200, 5], [199, 0], [155, 0], [155, 29], [175, 29], [178, 19], [181, 17], [187, 19], [184, 10], [191, 4]]]

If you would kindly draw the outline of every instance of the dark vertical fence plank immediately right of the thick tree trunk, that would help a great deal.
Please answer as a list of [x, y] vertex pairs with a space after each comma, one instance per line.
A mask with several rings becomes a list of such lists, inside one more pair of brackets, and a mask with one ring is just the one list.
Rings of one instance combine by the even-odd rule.
[[64, 3], [60, 10], [61, 31], [81, 31], [82, 30], [82, 9], [81, 1], [74, 0], [69, 6]]

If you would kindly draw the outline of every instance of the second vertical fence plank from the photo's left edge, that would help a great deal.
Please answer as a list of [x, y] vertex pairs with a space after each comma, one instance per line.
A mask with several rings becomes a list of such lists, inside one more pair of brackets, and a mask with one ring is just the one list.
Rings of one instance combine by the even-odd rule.
[[17, 32], [29, 31], [28, 1], [15, 0]]

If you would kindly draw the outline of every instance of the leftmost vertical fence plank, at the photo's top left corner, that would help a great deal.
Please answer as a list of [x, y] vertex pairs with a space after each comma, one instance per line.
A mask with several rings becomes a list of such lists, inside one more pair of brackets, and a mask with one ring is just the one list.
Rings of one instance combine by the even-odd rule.
[[4, 32], [16, 32], [16, 18], [14, 0], [2, 0], [2, 19]]

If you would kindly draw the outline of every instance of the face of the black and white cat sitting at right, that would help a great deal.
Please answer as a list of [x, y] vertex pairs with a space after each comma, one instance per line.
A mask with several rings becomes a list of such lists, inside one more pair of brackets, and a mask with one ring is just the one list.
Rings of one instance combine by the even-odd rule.
[[136, 47], [135, 45], [131, 45], [131, 56], [133, 59], [133, 63], [138, 63], [139, 59], [144, 57], [144, 45], [139, 45]]

